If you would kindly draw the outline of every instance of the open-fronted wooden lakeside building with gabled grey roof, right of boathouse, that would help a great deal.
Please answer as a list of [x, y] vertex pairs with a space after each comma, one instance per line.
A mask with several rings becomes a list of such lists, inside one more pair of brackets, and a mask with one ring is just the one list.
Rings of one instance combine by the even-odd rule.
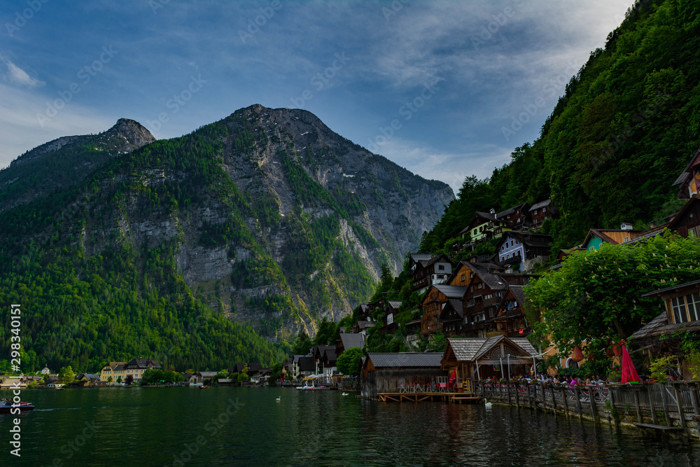
[[440, 368], [455, 370], [458, 381], [514, 377], [527, 375], [537, 354], [524, 337], [450, 337]]

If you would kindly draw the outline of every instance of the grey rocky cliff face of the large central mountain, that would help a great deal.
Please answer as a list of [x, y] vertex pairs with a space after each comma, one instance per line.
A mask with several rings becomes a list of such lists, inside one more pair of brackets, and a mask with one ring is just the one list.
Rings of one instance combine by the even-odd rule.
[[[307, 111], [255, 105], [153, 144], [141, 128], [120, 120], [110, 132], [128, 146], [118, 152], [146, 146], [94, 172], [61, 221], [31, 235], [65, 238], [87, 257], [170, 245], [197, 299], [272, 340], [313, 335], [321, 316], [366, 300], [381, 264], [399, 270], [454, 198]], [[62, 140], [18, 161], [76, 146]]]

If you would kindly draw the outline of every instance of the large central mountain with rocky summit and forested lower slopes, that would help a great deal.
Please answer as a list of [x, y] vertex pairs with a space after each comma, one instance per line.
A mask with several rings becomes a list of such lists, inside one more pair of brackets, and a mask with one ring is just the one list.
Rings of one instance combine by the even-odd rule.
[[[69, 144], [40, 146], [0, 177], [32, 160], [52, 167]], [[254, 105], [183, 137], [110, 147], [84, 179], [0, 213], [0, 296], [41, 317], [22, 330], [38, 364], [272, 363], [281, 350], [268, 341], [313, 335], [322, 316], [366, 300], [382, 264], [400, 269], [454, 199], [302, 110]], [[45, 183], [13, 177], [25, 193]]]

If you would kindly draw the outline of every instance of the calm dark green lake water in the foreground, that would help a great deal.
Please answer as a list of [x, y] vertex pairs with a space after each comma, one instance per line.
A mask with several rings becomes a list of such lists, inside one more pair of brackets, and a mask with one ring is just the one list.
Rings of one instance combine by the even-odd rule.
[[0, 414], [2, 466], [700, 466], [697, 443], [502, 405], [288, 388], [22, 395], [37, 409], [21, 417], [21, 459], [9, 454], [14, 416]]

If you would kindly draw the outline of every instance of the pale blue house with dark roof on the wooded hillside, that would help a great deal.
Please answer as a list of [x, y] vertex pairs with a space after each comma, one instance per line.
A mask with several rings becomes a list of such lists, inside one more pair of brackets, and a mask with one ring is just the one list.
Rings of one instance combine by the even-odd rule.
[[496, 244], [498, 260], [505, 267], [519, 272], [529, 272], [535, 263], [549, 260], [551, 249], [549, 235], [531, 232], [507, 232]]

